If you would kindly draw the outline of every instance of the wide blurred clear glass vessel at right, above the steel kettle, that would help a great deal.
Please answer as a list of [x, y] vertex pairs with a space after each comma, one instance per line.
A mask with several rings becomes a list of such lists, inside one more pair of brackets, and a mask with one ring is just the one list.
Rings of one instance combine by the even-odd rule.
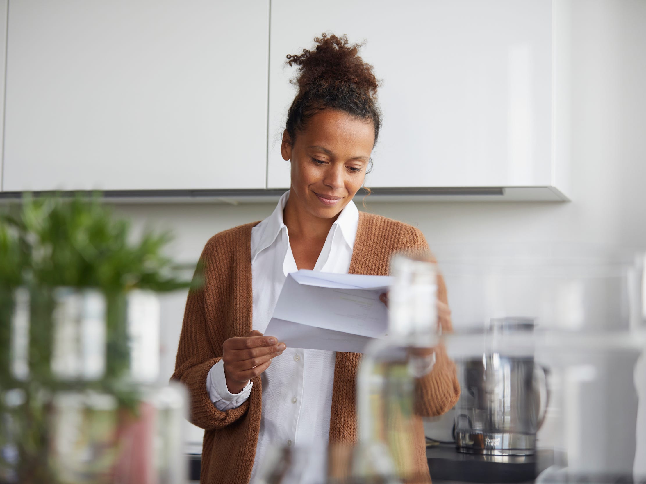
[[486, 330], [500, 318], [529, 318], [539, 330], [646, 330], [641, 252], [556, 243], [434, 249], [455, 330]]

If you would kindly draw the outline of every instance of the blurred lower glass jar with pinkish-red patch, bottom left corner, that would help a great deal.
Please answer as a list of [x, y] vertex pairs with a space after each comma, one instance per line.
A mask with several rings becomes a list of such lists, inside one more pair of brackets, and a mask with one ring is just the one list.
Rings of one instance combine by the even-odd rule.
[[122, 388], [118, 396], [57, 392], [50, 459], [59, 483], [182, 482], [185, 398], [180, 385]]

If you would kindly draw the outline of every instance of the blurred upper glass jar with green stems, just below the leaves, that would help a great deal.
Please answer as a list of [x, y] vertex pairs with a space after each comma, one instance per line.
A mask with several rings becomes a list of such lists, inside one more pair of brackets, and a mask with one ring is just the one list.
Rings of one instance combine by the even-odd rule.
[[[6, 373], [19, 381], [154, 383], [160, 306], [151, 291], [19, 288], [6, 326]], [[4, 360], [3, 360], [4, 361]]]

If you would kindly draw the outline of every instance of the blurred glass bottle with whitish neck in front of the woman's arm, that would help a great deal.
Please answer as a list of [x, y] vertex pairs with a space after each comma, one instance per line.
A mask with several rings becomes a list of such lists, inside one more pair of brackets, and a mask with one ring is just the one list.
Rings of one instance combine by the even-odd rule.
[[428, 481], [417, 379], [430, 372], [437, 344], [437, 272], [430, 260], [395, 256], [388, 338], [371, 343], [357, 378], [359, 443], [352, 475], [375, 482]]

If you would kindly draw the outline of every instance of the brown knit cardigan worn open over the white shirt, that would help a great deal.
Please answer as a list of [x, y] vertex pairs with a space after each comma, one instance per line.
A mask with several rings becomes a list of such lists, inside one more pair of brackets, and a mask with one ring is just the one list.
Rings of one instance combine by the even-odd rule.
[[[262, 384], [253, 379], [249, 399], [240, 407], [220, 412], [206, 388], [209, 370], [222, 359], [222, 343], [252, 329], [251, 228], [259, 222], [224, 230], [211, 237], [202, 252], [203, 287], [191, 290], [186, 301], [182, 334], [171, 379], [182, 381], [191, 398], [190, 420], [205, 429], [200, 481], [208, 484], [246, 484], [256, 455], [260, 430]], [[386, 275], [395, 252], [428, 250], [422, 232], [405, 223], [359, 212], [359, 226], [349, 267], [350, 274]], [[197, 275], [197, 274], [196, 274]], [[439, 277], [438, 297], [446, 303], [446, 287]], [[444, 327], [450, 330], [450, 327]], [[278, 357], [280, 358], [280, 357]], [[357, 441], [355, 380], [361, 355], [337, 352], [329, 425], [331, 443]], [[442, 348], [428, 376], [417, 382], [417, 413], [443, 414], [455, 405], [460, 388], [455, 365]], [[415, 462], [428, 476], [424, 429], [418, 419], [413, 436]]]

